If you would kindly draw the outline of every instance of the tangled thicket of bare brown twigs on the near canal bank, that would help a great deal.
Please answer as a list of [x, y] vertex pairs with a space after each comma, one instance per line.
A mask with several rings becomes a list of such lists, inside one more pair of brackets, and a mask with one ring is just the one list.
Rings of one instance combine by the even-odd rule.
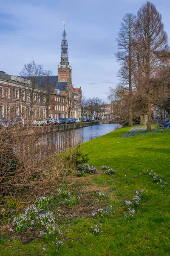
[[[82, 157], [77, 145], [55, 154], [44, 127], [14, 125], [0, 128], [0, 197], [31, 201], [34, 195], [53, 193], [65, 169], [76, 168]], [[56, 133], [56, 132], [55, 132]], [[65, 138], [66, 139], [66, 138]]]

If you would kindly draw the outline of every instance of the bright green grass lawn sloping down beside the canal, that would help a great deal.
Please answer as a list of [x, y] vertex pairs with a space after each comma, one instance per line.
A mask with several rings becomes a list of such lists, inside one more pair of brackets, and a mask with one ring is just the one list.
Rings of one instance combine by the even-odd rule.
[[[84, 153], [91, 152], [89, 164], [98, 169], [86, 177], [71, 175], [59, 182], [59, 187], [72, 195], [80, 195], [79, 204], [71, 207], [54, 201], [51, 208], [62, 227], [62, 256], [170, 256], [170, 130], [138, 137], [120, 137], [129, 128], [121, 128], [84, 143]], [[116, 170], [107, 175], [100, 166]], [[162, 175], [154, 182], [144, 170]], [[100, 198], [97, 191], [107, 194]], [[136, 190], [144, 190], [139, 205], [133, 207], [133, 217], [125, 201], [133, 201]], [[111, 216], [94, 218], [100, 207], [112, 206]], [[102, 224], [102, 225], [100, 225]], [[93, 234], [97, 225], [99, 232]], [[92, 234], [91, 234], [92, 233]], [[47, 255], [47, 241], [37, 237], [35, 230], [25, 233], [3, 231], [0, 256]], [[48, 254], [54, 255], [54, 254]], [[58, 255], [58, 254], [56, 254]]]

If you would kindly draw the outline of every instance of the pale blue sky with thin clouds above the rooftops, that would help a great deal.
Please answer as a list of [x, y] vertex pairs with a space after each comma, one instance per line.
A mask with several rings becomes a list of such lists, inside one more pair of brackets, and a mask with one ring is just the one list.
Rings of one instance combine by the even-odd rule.
[[[170, 36], [170, 1], [153, 0]], [[18, 75], [35, 60], [57, 75], [63, 21], [67, 32], [72, 82], [87, 97], [107, 101], [118, 81], [116, 35], [122, 17], [136, 14], [141, 0], [6, 0], [0, 8], [0, 70]]]

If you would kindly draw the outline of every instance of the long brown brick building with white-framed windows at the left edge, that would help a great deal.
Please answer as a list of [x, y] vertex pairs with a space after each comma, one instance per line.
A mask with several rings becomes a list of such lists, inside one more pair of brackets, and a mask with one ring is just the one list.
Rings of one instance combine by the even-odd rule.
[[[18, 76], [8, 75], [0, 71], [0, 118], [14, 118], [18, 116], [30, 117], [30, 95], [28, 88], [30, 81]], [[34, 118], [46, 117], [45, 93], [35, 90]]]

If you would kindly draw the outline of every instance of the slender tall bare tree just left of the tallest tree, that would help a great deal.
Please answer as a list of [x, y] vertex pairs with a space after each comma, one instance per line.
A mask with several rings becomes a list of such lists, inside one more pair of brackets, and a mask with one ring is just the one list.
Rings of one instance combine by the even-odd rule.
[[[135, 37], [135, 26], [136, 15], [133, 13], [127, 13], [123, 17], [123, 22], [120, 26], [118, 38], [119, 51], [115, 54], [117, 60], [121, 63], [122, 68], [119, 71], [119, 76], [124, 80], [125, 84], [128, 84], [129, 96], [132, 96], [132, 69], [133, 69], [133, 55], [134, 55], [134, 37]], [[133, 113], [132, 109], [129, 108], [129, 121], [128, 125], [133, 125]]]

